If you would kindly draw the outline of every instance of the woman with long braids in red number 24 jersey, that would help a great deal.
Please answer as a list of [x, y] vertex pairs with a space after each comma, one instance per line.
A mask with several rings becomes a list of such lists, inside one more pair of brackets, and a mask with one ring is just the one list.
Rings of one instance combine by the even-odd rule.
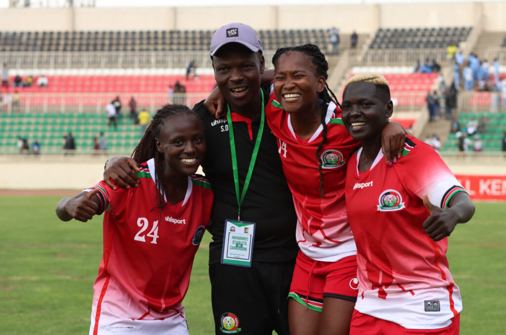
[[181, 302], [213, 202], [209, 183], [194, 175], [204, 154], [200, 118], [165, 105], [132, 155], [146, 181], [129, 189], [100, 181], [58, 203], [63, 221], [105, 211], [90, 334], [188, 334]]

